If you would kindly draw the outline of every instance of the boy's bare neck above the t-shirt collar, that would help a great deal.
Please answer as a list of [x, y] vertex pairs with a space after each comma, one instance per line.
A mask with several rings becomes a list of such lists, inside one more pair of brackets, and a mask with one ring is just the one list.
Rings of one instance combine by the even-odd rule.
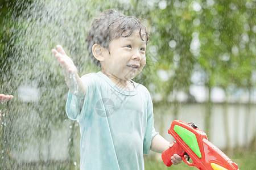
[[132, 90], [134, 90], [134, 83], [132, 83], [131, 80], [122, 80], [122, 79], [119, 79], [119, 78], [117, 78], [116, 76], [111, 75], [111, 74], [108, 74], [108, 73], [106, 73], [106, 72], [103, 71], [103, 70], [101, 70], [101, 72], [102, 72], [103, 74], [105, 74], [106, 76], [108, 76], [108, 78], [109, 78], [110, 80], [112, 80], [112, 82], [113, 82], [116, 86], [118, 86], [118, 87], [120, 87], [120, 88], [122, 88], [122, 89], [124, 89], [124, 90], [127, 90], [127, 91], [132, 91]]

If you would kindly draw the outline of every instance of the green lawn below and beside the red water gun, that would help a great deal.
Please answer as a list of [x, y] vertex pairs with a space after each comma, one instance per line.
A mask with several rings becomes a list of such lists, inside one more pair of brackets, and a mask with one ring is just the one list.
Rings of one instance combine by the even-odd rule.
[[[256, 151], [244, 151], [238, 150], [229, 156], [229, 158], [238, 164], [240, 170], [254, 170], [256, 169]], [[145, 156], [145, 170], [167, 170], [167, 169], [179, 169], [179, 170], [193, 170], [196, 167], [189, 167], [184, 162], [179, 165], [172, 165], [171, 167], [166, 167], [160, 158], [160, 155]]]

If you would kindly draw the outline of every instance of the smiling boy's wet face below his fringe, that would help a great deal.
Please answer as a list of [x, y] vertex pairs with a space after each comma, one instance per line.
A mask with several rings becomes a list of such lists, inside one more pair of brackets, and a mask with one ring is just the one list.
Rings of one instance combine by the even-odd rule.
[[134, 31], [129, 37], [114, 39], [109, 44], [109, 53], [105, 52], [101, 70], [115, 79], [133, 79], [146, 65], [145, 52], [146, 41], [141, 39], [139, 31]]

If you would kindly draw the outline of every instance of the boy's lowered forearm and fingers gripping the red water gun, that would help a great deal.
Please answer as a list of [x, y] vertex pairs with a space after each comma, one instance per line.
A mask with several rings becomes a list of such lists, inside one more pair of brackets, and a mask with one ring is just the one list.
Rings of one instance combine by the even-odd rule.
[[[154, 152], [158, 152], [162, 154], [163, 151], [167, 150], [168, 148], [172, 147], [174, 145], [174, 141], [168, 142], [166, 139], [164, 139], [161, 135], [157, 134], [151, 141], [151, 150]], [[179, 155], [174, 154], [174, 156], [171, 157], [172, 164], [177, 165], [182, 162], [182, 159]]]

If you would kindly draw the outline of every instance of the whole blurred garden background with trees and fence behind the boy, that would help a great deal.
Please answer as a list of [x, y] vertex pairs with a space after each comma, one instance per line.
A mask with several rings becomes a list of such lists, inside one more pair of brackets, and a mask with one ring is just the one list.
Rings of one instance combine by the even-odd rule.
[[[0, 104], [1, 169], [79, 169], [79, 125], [65, 115], [68, 88], [51, 49], [63, 45], [79, 75], [99, 71], [85, 39], [108, 8], [141, 18], [151, 32], [147, 65], [134, 80], [151, 93], [156, 130], [172, 139], [172, 120], [193, 121], [240, 169], [255, 169], [255, 5], [0, 0], [0, 93], [14, 95]], [[167, 167], [151, 152], [145, 169]]]

